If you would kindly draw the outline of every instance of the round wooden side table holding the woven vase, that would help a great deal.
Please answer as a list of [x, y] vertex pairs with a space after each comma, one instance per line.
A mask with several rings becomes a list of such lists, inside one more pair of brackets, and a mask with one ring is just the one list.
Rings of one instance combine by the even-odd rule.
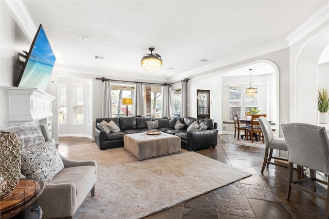
[[42, 181], [30, 179], [20, 180], [12, 193], [1, 199], [1, 218], [37, 219], [42, 217], [42, 209], [38, 206], [38, 198], [45, 185]]

